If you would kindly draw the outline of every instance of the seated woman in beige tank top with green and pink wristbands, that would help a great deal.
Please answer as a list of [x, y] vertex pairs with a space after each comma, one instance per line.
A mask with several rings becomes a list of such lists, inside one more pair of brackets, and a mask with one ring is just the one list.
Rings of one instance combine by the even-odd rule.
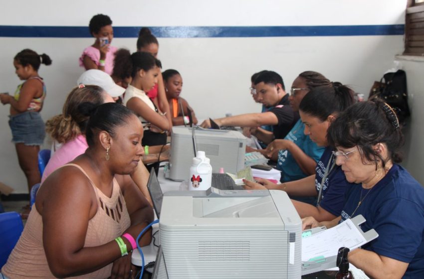
[[[81, 110], [90, 114], [89, 147], [40, 187], [24, 231], [1, 270], [8, 278], [135, 276], [134, 239], [153, 221], [151, 206], [126, 175], [137, 170], [143, 155], [143, 127], [122, 105], [83, 105]], [[151, 238], [150, 230], [140, 246]], [[125, 250], [129, 254], [123, 256]]]

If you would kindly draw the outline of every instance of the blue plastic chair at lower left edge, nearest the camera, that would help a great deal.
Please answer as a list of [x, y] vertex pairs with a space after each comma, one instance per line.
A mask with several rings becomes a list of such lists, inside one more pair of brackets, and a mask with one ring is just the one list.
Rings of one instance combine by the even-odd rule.
[[17, 212], [0, 213], [0, 269], [16, 245], [23, 231], [22, 219]]

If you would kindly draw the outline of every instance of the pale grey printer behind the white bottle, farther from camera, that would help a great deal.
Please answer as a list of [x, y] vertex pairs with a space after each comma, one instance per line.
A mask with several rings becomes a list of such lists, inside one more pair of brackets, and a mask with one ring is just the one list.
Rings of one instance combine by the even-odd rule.
[[197, 150], [205, 151], [211, 159], [212, 172], [223, 167], [225, 172], [236, 173], [244, 168], [246, 138], [238, 131], [173, 127], [169, 178], [183, 181], [189, 178], [195, 157], [192, 129], [195, 130]]

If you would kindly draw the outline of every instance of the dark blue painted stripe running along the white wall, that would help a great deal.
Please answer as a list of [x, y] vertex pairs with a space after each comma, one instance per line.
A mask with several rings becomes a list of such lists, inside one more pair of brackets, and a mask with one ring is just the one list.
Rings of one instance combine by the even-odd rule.
[[[149, 27], [159, 38], [403, 35], [404, 24], [338, 26], [165, 26]], [[116, 38], [135, 38], [140, 27], [114, 26]], [[0, 37], [91, 37], [87, 26], [0, 25]]]

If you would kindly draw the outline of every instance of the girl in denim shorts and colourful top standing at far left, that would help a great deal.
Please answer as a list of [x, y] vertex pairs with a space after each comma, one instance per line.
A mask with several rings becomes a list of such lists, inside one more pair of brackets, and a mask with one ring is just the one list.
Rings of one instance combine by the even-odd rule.
[[45, 131], [39, 112], [46, 96], [44, 82], [38, 76], [41, 63], [50, 65], [50, 57], [46, 54], [38, 55], [30, 49], [24, 49], [16, 54], [13, 59], [15, 73], [24, 82], [17, 87], [14, 96], [7, 93], [0, 94], [1, 103], [10, 104], [9, 126], [12, 141], [16, 146], [20, 168], [28, 182], [28, 191], [41, 179], [37, 155], [40, 145], [43, 144]]

